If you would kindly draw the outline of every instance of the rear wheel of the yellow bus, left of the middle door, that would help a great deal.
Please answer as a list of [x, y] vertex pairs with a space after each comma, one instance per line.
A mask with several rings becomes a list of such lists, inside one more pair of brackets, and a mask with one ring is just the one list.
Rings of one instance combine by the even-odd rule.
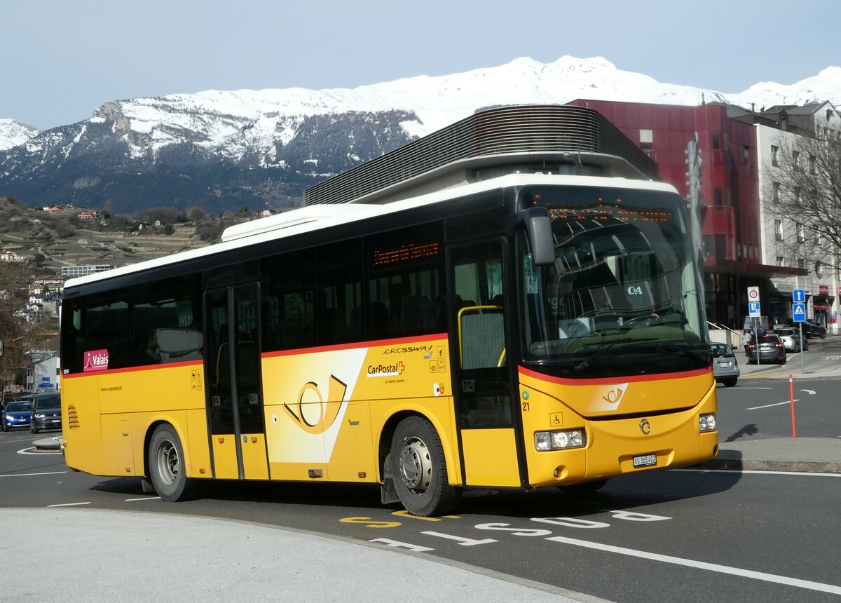
[[160, 425], [149, 442], [149, 479], [161, 500], [176, 502], [198, 495], [199, 486], [188, 479], [181, 439], [171, 425]]

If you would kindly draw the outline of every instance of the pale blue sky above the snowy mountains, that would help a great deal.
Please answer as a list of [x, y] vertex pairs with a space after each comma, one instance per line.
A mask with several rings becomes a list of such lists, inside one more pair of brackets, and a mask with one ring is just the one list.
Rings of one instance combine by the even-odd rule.
[[817, 0], [0, 0], [0, 24], [0, 118], [40, 129], [108, 100], [357, 87], [521, 56], [603, 56], [724, 93], [841, 66], [841, 13]]

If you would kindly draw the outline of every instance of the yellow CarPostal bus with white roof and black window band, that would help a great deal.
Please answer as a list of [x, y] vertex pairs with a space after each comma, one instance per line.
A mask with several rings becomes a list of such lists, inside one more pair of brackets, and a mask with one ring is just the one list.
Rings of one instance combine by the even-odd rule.
[[66, 463], [173, 501], [210, 479], [380, 484], [429, 516], [463, 489], [714, 457], [685, 202], [574, 163], [314, 204], [68, 281]]

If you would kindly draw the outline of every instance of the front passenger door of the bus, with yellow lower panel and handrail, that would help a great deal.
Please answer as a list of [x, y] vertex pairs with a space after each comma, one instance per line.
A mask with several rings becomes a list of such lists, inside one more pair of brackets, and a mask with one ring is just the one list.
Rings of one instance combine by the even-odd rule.
[[494, 239], [451, 246], [452, 387], [464, 479], [470, 486], [520, 486], [517, 403], [506, 357], [503, 257]]

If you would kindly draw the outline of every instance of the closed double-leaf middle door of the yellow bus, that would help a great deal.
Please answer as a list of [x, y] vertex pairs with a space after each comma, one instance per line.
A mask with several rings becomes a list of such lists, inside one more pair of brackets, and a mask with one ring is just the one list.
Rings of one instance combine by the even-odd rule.
[[204, 374], [214, 477], [268, 479], [257, 283], [207, 291]]

